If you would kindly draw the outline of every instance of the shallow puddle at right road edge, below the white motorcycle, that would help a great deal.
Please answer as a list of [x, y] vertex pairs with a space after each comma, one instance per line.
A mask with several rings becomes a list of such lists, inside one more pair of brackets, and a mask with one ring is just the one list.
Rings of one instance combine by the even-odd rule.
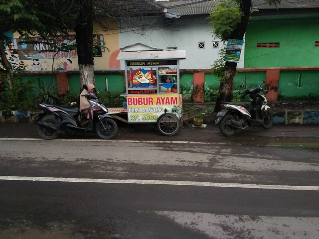
[[294, 149], [306, 149], [319, 152], [319, 140], [317, 137], [263, 137], [247, 136], [231, 138], [232, 141], [249, 146], [269, 146]]

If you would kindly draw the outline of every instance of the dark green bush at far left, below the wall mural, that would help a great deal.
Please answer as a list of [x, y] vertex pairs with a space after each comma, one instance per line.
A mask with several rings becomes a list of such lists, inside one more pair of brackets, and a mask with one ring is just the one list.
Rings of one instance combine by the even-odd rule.
[[13, 78], [9, 89], [6, 83], [0, 82], [0, 110], [27, 111], [34, 108], [34, 101], [30, 97], [33, 81], [23, 82], [21, 78]]

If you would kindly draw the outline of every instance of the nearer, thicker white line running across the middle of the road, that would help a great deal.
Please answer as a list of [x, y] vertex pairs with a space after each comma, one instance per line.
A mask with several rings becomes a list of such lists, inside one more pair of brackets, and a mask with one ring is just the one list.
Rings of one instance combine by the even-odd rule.
[[220, 188], [250, 188], [250, 189], [319, 191], [319, 186], [264, 185], [264, 184], [213, 183], [213, 182], [194, 182], [194, 181], [138, 180], [138, 179], [98, 179], [98, 178], [55, 178], [55, 177], [0, 176], [0, 180], [69, 182], [69, 183], [157, 184], [157, 185], [204, 186], [204, 187], [220, 187]]

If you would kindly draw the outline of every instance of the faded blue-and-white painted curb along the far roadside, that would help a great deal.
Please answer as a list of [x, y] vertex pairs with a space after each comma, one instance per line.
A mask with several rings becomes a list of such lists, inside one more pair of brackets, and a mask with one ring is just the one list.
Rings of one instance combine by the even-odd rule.
[[[0, 122], [34, 122], [41, 112], [42, 111], [0, 111]], [[198, 109], [193, 112], [193, 114], [196, 113], [198, 113]], [[190, 115], [192, 114], [183, 114], [183, 118], [189, 118]], [[319, 124], [319, 111], [283, 111], [274, 113], [273, 115], [274, 123]]]

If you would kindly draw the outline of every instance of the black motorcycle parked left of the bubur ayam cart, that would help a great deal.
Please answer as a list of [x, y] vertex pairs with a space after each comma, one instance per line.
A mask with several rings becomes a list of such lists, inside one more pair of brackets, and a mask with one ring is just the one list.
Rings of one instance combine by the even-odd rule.
[[39, 135], [44, 139], [55, 139], [60, 134], [89, 132], [97, 133], [102, 139], [113, 138], [117, 134], [118, 125], [108, 114], [108, 109], [92, 93], [81, 97], [85, 97], [90, 104], [89, 116], [84, 123], [80, 122], [80, 111], [76, 107], [39, 103], [43, 112], [34, 122], [38, 125]]

